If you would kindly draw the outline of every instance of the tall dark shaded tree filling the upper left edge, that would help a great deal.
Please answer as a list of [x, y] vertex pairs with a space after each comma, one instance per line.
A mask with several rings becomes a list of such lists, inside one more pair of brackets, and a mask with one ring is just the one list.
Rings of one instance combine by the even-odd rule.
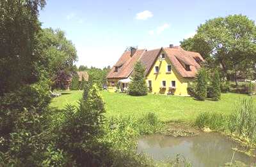
[[38, 80], [36, 62], [44, 58], [35, 35], [40, 30], [38, 13], [44, 6], [44, 0], [0, 2], [0, 96]]

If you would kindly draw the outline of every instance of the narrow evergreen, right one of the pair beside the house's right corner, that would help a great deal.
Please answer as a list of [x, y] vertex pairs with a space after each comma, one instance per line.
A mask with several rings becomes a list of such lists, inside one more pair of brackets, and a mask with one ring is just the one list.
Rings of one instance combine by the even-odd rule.
[[211, 86], [212, 86], [212, 99], [214, 99], [215, 101], [220, 100], [220, 96], [221, 96], [220, 75], [217, 70], [214, 71]]

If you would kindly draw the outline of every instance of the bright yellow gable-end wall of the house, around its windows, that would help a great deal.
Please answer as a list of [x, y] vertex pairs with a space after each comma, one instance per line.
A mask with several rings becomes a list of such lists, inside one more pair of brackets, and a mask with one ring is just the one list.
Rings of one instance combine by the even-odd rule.
[[[167, 71], [167, 65], [169, 64], [172, 67], [171, 72]], [[159, 73], [155, 73], [155, 66], [159, 66]], [[146, 80], [147, 84], [148, 80], [152, 81], [152, 93], [157, 94], [167, 94], [172, 81], [175, 81], [176, 91], [174, 94], [180, 96], [188, 96], [188, 82], [193, 81], [191, 78], [183, 78], [180, 76], [167, 56], [165, 56], [162, 61], [159, 60], [159, 57], [157, 58], [157, 61], [154, 63], [154, 66], [152, 66], [152, 69], [150, 69], [150, 73], [148, 73]], [[160, 89], [163, 80], [166, 81], [166, 89]]]

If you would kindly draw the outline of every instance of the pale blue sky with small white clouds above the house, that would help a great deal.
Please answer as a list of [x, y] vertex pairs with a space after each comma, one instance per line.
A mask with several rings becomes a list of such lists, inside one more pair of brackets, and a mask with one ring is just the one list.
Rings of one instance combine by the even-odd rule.
[[168, 47], [195, 34], [214, 17], [247, 15], [256, 20], [255, 0], [82, 1], [48, 0], [43, 27], [65, 31], [77, 49], [77, 66], [113, 66], [126, 47]]

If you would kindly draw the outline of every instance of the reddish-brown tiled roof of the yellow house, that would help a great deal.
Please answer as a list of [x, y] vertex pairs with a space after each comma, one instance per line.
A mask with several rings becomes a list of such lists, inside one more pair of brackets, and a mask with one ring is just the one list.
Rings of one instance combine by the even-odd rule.
[[[154, 50], [137, 50], [131, 57], [131, 52], [127, 51], [120, 57], [118, 62], [109, 72], [107, 78], [127, 78], [131, 75], [133, 66], [136, 61], [141, 61], [145, 66], [145, 75], [148, 75], [157, 57], [164, 50], [167, 57], [172, 61], [173, 66], [177, 69], [180, 76], [184, 78], [193, 78], [196, 75], [197, 70], [200, 68], [200, 62], [204, 61], [202, 56], [196, 52], [188, 52], [181, 47], [173, 48], [158, 48]], [[186, 71], [185, 66], [188, 65], [190, 71]], [[119, 67], [118, 72], [115, 72], [115, 68]]]

